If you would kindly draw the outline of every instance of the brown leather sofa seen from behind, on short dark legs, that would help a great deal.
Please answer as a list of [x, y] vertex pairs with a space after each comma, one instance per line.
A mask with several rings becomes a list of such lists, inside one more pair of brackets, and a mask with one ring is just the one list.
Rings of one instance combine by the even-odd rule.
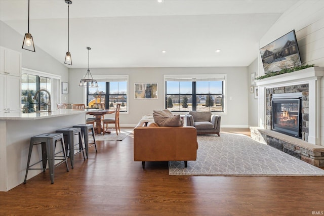
[[158, 126], [139, 122], [134, 128], [134, 161], [181, 161], [197, 157], [197, 132], [192, 126]]

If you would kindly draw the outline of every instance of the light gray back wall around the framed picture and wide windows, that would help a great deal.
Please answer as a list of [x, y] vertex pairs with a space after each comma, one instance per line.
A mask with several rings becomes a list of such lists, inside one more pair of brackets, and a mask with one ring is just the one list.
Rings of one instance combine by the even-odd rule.
[[[84, 88], [78, 87], [86, 69], [69, 69], [70, 103], [84, 103]], [[94, 68], [92, 75], [129, 75], [129, 113], [120, 114], [120, 124], [136, 125], [143, 115], [164, 109], [164, 74], [227, 74], [226, 106], [222, 127], [248, 127], [248, 68], [247, 67], [176, 67], [176, 68]], [[135, 100], [134, 83], [157, 82], [158, 99]], [[231, 100], [229, 100], [231, 98]]]

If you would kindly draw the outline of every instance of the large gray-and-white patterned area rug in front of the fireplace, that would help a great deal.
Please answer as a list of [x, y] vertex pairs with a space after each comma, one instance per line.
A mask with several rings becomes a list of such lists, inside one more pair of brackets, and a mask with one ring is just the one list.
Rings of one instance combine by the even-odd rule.
[[197, 136], [197, 160], [169, 161], [176, 176], [324, 176], [324, 170], [245, 135]]

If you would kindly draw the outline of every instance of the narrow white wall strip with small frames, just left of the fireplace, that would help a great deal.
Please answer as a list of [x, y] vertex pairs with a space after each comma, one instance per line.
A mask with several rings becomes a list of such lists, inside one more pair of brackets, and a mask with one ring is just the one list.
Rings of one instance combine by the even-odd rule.
[[[248, 67], [249, 87], [255, 87], [255, 83], [251, 82], [251, 74], [258, 74], [258, 59], [255, 59]], [[258, 126], [258, 99], [254, 98], [254, 93], [249, 90], [249, 126]]]

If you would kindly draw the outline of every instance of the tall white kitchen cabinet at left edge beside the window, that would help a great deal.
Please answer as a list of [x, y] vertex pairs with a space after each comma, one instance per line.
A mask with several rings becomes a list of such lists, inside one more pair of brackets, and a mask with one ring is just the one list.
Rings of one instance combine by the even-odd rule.
[[21, 77], [0, 74], [0, 111], [21, 109]]

